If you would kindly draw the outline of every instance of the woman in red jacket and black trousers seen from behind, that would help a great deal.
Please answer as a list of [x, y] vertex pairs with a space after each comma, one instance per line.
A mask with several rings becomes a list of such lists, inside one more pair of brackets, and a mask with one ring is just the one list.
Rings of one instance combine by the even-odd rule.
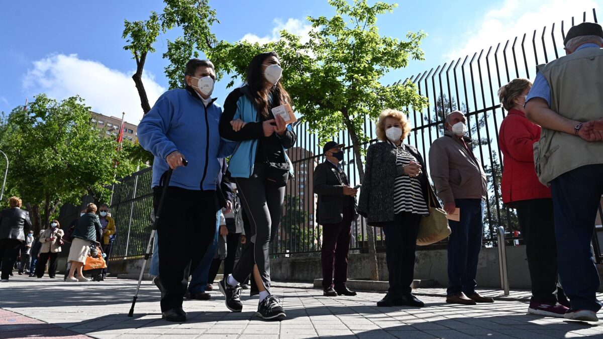
[[[557, 288], [557, 244], [551, 189], [538, 181], [532, 145], [540, 139], [540, 126], [525, 117], [526, 95], [532, 83], [517, 78], [500, 87], [500, 104], [508, 110], [500, 124], [499, 145], [503, 154], [502, 201], [517, 210], [526, 244], [532, 280], [528, 312], [563, 318], [569, 302]], [[560, 305], [563, 303], [563, 305]]]

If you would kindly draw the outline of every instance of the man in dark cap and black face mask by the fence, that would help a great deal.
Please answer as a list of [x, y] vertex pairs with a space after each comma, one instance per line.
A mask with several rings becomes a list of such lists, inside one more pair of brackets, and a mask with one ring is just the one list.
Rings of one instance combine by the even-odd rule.
[[350, 181], [341, 167], [344, 146], [335, 141], [324, 144], [326, 161], [314, 169], [314, 194], [318, 195], [316, 219], [323, 226], [323, 294], [328, 297], [356, 295], [355, 291], [346, 287], [346, 281], [352, 221], [358, 215], [358, 189], [350, 187]]

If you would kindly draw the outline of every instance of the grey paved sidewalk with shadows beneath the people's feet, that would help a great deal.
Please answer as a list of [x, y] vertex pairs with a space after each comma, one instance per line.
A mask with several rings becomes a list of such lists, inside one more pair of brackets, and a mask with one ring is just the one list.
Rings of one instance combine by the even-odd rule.
[[[127, 317], [136, 281], [66, 283], [60, 279], [11, 277], [0, 284], [0, 307], [40, 320], [31, 330], [36, 337], [50, 334], [48, 324], [95, 338], [603, 338], [603, 323], [569, 322], [526, 314], [527, 303], [514, 300], [475, 306], [449, 305], [442, 297], [421, 296], [422, 309], [377, 308], [383, 294], [359, 293], [357, 297], [323, 297], [309, 284], [276, 284], [287, 313], [282, 322], [254, 317], [257, 299], [243, 298], [243, 312], [229, 312], [224, 297], [212, 292], [212, 300], [187, 300], [189, 321], [161, 320], [159, 291], [143, 282], [133, 318]], [[426, 289], [425, 292], [429, 292]], [[244, 291], [247, 292], [248, 291]], [[421, 293], [421, 290], [416, 290]], [[33, 320], [32, 320], [33, 321]], [[0, 323], [0, 338], [32, 337]]]

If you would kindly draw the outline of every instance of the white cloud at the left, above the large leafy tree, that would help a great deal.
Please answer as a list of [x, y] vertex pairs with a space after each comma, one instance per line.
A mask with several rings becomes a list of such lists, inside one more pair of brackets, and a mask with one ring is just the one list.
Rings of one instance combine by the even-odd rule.
[[[125, 121], [138, 124], [143, 112], [131, 78], [133, 73], [110, 69], [93, 60], [79, 59], [77, 54], [57, 54], [34, 62], [22, 85], [30, 96], [46, 93], [48, 97], [63, 100], [80, 95], [94, 112], [118, 118], [121, 112], [125, 112]], [[165, 88], [157, 84], [153, 74], [148, 72], [142, 81], [153, 106]]]

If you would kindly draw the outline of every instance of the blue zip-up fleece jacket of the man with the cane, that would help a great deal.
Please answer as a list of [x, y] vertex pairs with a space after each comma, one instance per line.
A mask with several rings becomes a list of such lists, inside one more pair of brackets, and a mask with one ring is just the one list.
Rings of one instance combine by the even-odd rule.
[[169, 186], [216, 189], [221, 168], [218, 158], [232, 154], [236, 145], [221, 141], [221, 115], [222, 107], [213, 101], [206, 107], [192, 88], [168, 90], [159, 97], [138, 125], [140, 145], [155, 156], [151, 187], [159, 186], [161, 176], [169, 170], [168, 154], [179, 151], [188, 166], [174, 170]]

